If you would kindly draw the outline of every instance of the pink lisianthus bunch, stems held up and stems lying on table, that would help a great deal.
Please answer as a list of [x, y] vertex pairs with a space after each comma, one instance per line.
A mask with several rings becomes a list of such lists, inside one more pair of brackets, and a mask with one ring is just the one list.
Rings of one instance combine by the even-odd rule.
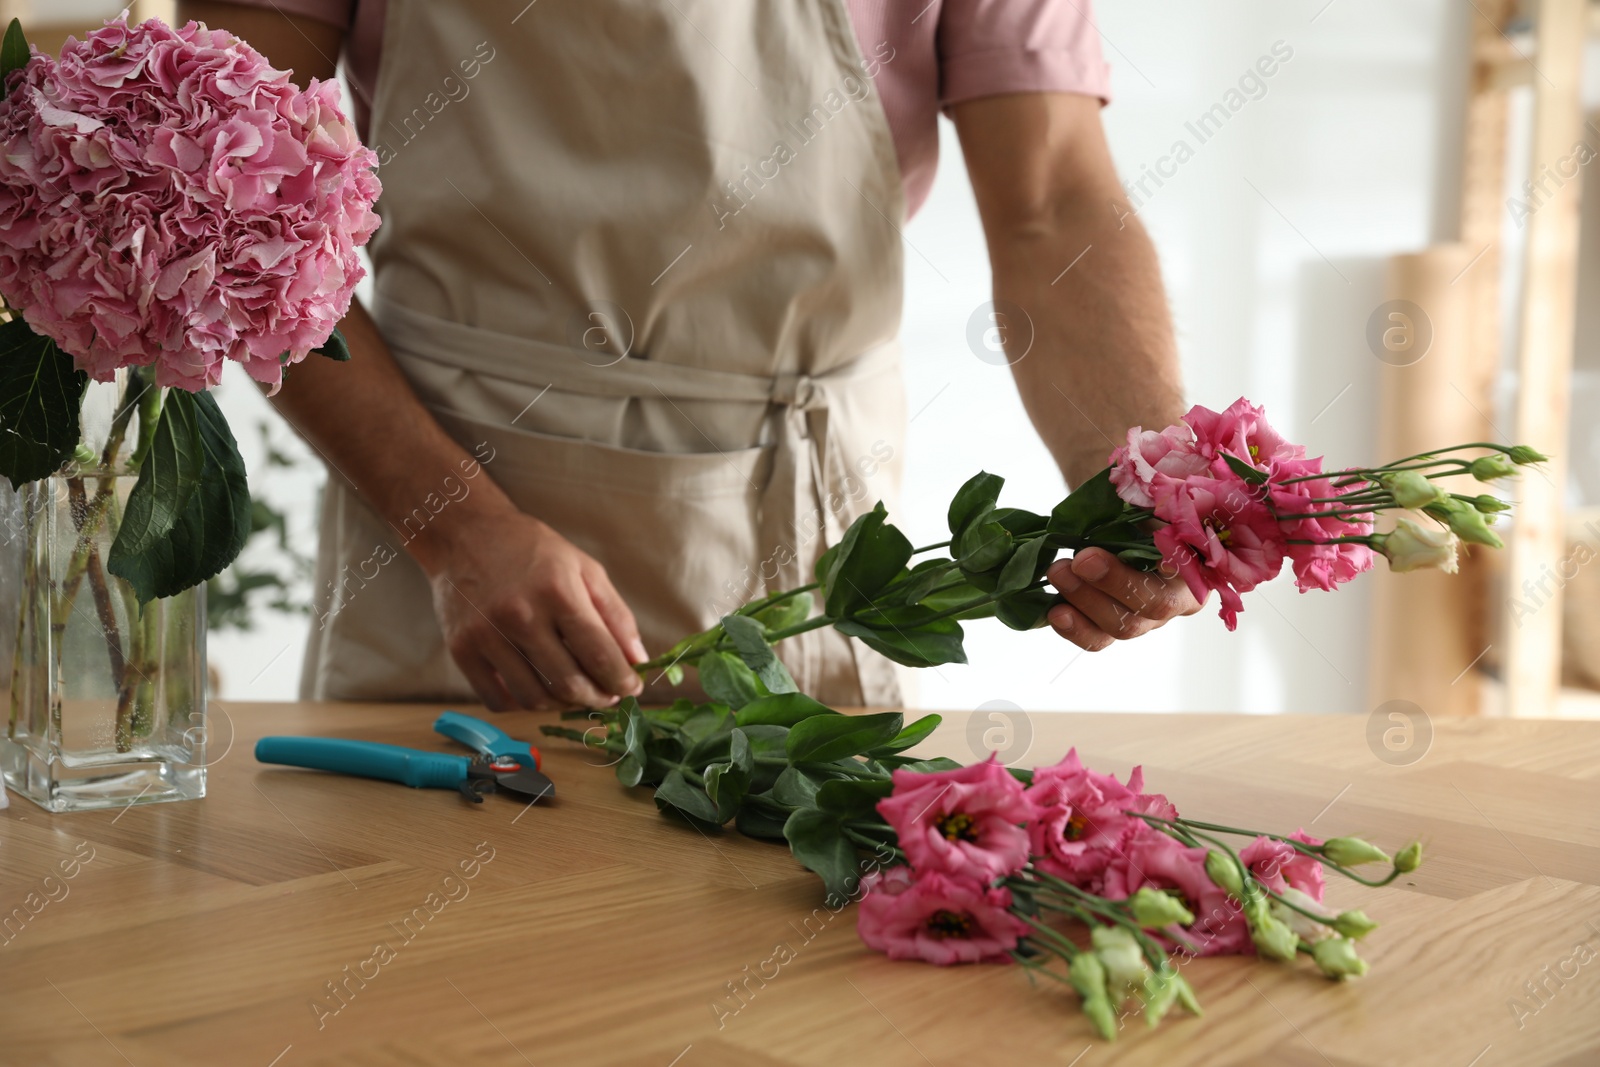
[[[613, 753], [624, 785], [654, 787], [662, 811], [707, 832], [733, 821], [787, 841], [822, 878], [829, 907], [859, 901], [867, 947], [941, 965], [1014, 960], [1072, 985], [1107, 1040], [1130, 1001], [1152, 1025], [1173, 1005], [1198, 1013], [1176, 963], [1192, 957], [1304, 955], [1330, 977], [1360, 976], [1355, 942], [1376, 923], [1325, 904], [1323, 873], [1387, 885], [1416, 870], [1421, 845], [1390, 859], [1354, 837], [1189, 819], [1146, 793], [1138, 768], [1118, 782], [1077, 752], [1032, 771], [914, 757], [938, 715], [909, 725], [896, 712], [842, 715], [795, 691], [773, 646], [832, 625], [901, 664], [965, 662], [963, 621], [1042, 625], [1061, 603], [1046, 568], [1088, 547], [1181, 574], [1202, 601], [1216, 592], [1234, 629], [1243, 593], [1285, 563], [1302, 592], [1331, 590], [1379, 555], [1395, 571], [1454, 571], [1462, 542], [1499, 547], [1490, 525], [1509, 506], [1443, 480], [1494, 482], [1542, 459], [1478, 443], [1328, 472], [1261, 408], [1197, 406], [1162, 432], [1130, 430], [1110, 464], [1048, 515], [1000, 507], [1002, 480], [979, 474], [950, 501], [950, 539], [912, 549], [880, 504], [822, 555], [814, 582], [640, 664], [669, 677], [696, 667], [709, 702], [626, 699], [570, 713], [597, 718], [587, 731], [544, 731]], [[1389, 510], [1410, 514], [1379, 531]], [[926, 558], [912, 565], [917, 555]], [[1368, 880], [1354, 870], [1365, 864], [1389, 872]], [[1069, 923], [1086, 936], [1070, 936]]]

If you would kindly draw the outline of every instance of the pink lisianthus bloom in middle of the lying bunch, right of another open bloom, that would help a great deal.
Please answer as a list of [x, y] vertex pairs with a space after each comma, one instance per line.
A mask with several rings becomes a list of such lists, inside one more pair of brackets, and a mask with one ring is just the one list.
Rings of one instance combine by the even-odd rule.
[[1155, 833], [1147, 822], [1125, 813], [1178, 816], [1166, 797], [1144, 792], [1142, 768], [1133, 768], [1123, 785], [1110, 774], [1085, 768], [1077, 749], [1061, 763], [1034, 771], [1027, 798], [1038, 809], [1027, 827], [1034, 865], [1091, 893], [1133, 837]]

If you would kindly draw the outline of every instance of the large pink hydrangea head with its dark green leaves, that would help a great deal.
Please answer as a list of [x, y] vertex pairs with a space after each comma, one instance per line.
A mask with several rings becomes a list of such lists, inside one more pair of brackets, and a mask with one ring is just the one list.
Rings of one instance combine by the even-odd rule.
[[[205, 394], [224, 363], [277, 387], [310, 352], [349, 358], [336, 326], [378, 227], [378, 158], [338, 85], [301, 90], [197, 22], [118, 18], [56, 59], [13, 21], [0, 85], [0, 474], [138, 469], [107, 569], [141, 601], [170, 597], [250, 534], [243, 462]], [[91, 451], [85, 389], [118, 371]], [[107, 478], [83, 510], [114, 506]]]

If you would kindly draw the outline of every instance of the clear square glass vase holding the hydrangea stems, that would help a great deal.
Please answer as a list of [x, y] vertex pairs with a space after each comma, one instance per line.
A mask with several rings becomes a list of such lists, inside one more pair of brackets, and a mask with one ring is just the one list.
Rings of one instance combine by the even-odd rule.
[[205, 797], [205, 587], [141, 605], [106, 569], [136, 480], [0, 478], [0, 769], [48, 811]]

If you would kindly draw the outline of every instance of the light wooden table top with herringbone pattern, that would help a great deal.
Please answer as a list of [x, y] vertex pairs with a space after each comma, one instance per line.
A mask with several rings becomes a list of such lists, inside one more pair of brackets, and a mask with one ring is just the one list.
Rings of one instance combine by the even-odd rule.
[[[1395, 766], [1363, 718], [1013, 723], [1024, 763], [1069, 744], [1118, 774], [1142, 760], [1195, 817], [1427, 843], [1400, 885], [1334, 888], [1384, 923], [1365, 979], [1200, 960], [1206, 1017], [1134, 1021], [1107, 1046], [1018, 968], [867, 952], [786, 849], [667, 821], [566, 742], [546, 739], [560, 798], [533, 809], [251, 755], [267, 733], [448, 749], [437, 710], [229, 705], [203, 801], [50, 816], [13, 798], [0, 917], [43, 905], [0, 934], [0, 1062], [1600, 1062], [1600, 725], [1435, 721]], [[531, 737], [549, 717], [496, 721]], [[966, 737], [952, 715], [925, 749], [971, 758]]]

